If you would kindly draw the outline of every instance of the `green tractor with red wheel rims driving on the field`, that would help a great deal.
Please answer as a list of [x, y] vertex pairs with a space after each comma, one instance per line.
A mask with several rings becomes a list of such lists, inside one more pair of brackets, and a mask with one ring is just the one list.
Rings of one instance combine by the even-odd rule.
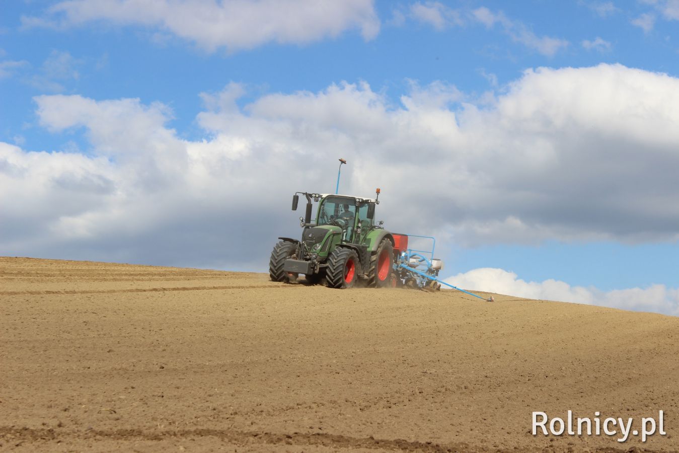
[[[297, 210], [300, 195], [307, 200], [306, 216], [299, 217], [304, 230], [301, 240], [279, 238], [269, 262], [271, 279], [292, 283], [304, 274], [308, 283], [325, 280], [328, 287], [337, 289], [351, 288], [359, 282], [367, 287], [394, 286], [394, 236], [382, 228], [382, 221], [375, 225], [380, 189], [376, 194], [372, 200], [297, 192], [293, 211]], [[313, 222], [312, 200], [318, 202]]]

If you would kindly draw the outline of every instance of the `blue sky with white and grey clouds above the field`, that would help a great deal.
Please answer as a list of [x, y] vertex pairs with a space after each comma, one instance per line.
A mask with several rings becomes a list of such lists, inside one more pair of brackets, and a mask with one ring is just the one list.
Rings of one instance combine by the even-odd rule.
[[679, 315], [679, 0], [0, 4], [0, 255], [266, 272], [371, 196], [467, 289]]

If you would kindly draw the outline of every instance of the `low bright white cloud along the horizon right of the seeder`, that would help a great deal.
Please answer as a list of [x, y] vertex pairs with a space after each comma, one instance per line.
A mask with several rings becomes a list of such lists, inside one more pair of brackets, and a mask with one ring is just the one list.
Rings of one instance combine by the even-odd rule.
[[600, 291], [594, 287], [574, 287], [553, 279], [526, 282], [514, 272], [496, 268], [474, 269], [445, 278], [444, 281], [467, 290], [679, 316], [679, 289], [667, 288], [665, 285]]

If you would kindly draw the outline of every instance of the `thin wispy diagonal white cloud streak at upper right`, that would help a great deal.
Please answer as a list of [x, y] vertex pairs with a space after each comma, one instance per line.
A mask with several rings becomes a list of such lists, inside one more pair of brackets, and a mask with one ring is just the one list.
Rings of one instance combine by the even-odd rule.
[[511, 20], [502, 12], [492, 12], [487, 7], [479, 7], [471, 12], [471, 16], [481, 24], [492, 28], [500, 24], [502, 31], [517, 43], [521, 43], [527, 48], [536, 50], [545, 56], [553, 56], [559, 50], [568, 47], [568, 41], [549, 36], [538, 37], [530, 31], [526, 24], [517, 20]]

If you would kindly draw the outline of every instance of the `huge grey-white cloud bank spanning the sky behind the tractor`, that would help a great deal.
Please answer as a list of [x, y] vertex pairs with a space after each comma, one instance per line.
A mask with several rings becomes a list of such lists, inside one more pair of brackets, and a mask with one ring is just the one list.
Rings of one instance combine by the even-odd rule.
[[90, 147], [0, 146], [3, 253], [262, 270], [299, 234], [289, 196], [331, 191], [338, 157], [343, 192], [382, 187], [387, 228], [444, 244], [679, 239], [674, 77], [540, 68], [483, 103], [443, 82], [395, 105], [365, 83], [245, 92], [203, 94], [195, 140], [160, 103], [38, 96], [45, 128]]

